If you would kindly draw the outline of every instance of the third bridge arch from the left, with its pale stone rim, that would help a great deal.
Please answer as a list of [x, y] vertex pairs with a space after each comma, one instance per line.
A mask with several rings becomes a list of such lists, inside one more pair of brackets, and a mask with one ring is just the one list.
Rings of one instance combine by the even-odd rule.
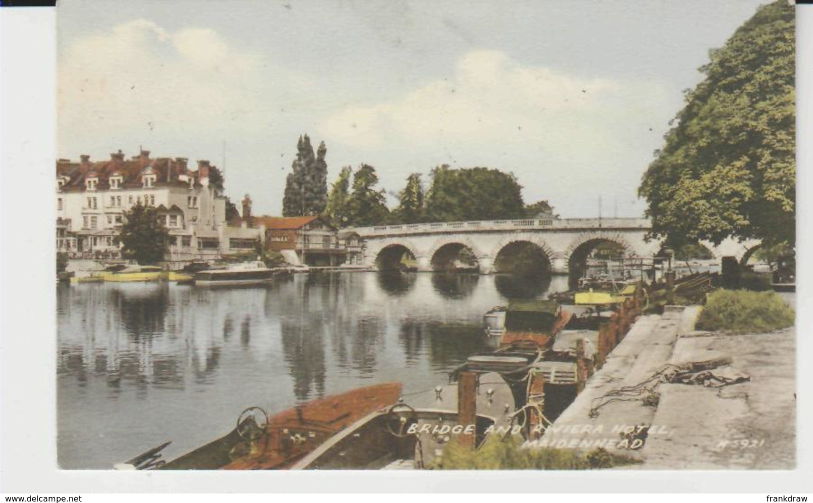
[[[538, 234], [516, 233], [503, 237], [488, 258], [493, 272], [532, 272], [550, 275], [556, 253]], [[521, 262], [516, 262], [521, 260]], [[481, 267], [482, 267], [482, 260]], [[511, 266], [510, 262], [515, 262]]]

